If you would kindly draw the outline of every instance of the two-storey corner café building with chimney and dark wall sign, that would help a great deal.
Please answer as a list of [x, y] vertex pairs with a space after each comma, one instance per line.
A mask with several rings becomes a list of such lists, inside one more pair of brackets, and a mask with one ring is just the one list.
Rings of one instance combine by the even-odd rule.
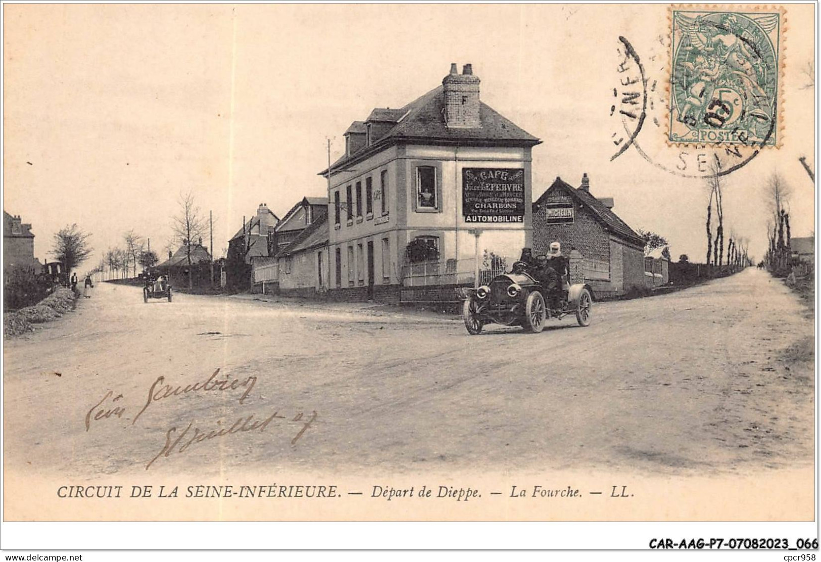
[[345, 132], [328, 178], [328, 296], [453, 300], [484, 256], [531, 246], [531, 149], [540, 140], [479, 98], [470, 64], [402, 108]]

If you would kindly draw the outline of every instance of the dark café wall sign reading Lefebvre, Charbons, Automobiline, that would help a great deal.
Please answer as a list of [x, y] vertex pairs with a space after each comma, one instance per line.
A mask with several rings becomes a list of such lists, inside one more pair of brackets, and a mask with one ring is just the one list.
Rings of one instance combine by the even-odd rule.
[[462, 215], [466, 223], [524, 223], [525, 170], [462, 169]]

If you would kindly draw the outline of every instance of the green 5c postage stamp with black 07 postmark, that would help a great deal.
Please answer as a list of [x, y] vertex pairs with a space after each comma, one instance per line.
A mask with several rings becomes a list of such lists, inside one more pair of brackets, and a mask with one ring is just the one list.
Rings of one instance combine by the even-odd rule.
[[669, 142], [777, 146], [784, 13], [671, 8]]

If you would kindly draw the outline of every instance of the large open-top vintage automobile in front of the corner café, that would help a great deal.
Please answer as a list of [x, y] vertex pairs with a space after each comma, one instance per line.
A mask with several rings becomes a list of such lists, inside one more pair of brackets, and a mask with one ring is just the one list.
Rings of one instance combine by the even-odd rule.
[[557, 306], [548, 306], [547, 292], [531, 274], [526, 265], [516, 262], [513, 271], [497, 275], [489, 283], [476, 289], [466, 289], [462, 304], [462, 318], [469, 334], [479, 334], [486, 324], [521, 325], [529, 332], [544, 329], [548, 318], [562, 319], [575, 314], [580, 326], [590, 324], [593, 290], [586, 283], [570, 285], [566, 298]]

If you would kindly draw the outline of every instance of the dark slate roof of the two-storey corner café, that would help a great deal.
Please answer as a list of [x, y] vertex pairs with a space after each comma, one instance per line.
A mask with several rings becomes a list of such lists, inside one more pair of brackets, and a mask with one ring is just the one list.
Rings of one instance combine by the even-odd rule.
[[[374, 121], [397, 121], [388, 132], [373, 140], [370, 146], [364, 146], [350, 156], [342, 156], [331, 164], [334, 170], [341, 170], [346, 164], [364, 159], [370, 154], [396, 144], [398, 142], [417, 142], [420, 144], [463, 144], [463, 145], [516, 145], [534, 146], [541, 140], [531, 135], [506, 117], [479, 101], [479, 120], [481, 127], [451, 127], [445, 124], [443, 110], [445, 108], [444, 87], [439, 85], [427, 94], [407, 104], [400, 109], [376, 108], [371, 112], [379, 119]], [[403, 117], [404, 116], [404, 117]], [[388, 118], [392, 117], [392, 118]], [[328, 168], [319, 173], [328, 174]]]

